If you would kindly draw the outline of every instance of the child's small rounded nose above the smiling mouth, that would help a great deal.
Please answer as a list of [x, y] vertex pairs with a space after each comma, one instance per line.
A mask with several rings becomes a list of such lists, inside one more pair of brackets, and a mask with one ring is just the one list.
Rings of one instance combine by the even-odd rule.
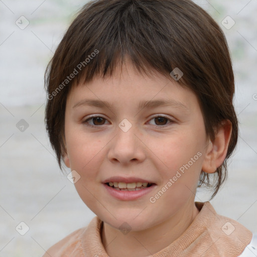
[[142, 163], [146, 159], [144, 144], [141, 142], [134, 126], [127, 132], [117, 127], [117, 135], [111, 141], [108, 152], [108, 160], [112, 163], [129, 165], [130, 163]]

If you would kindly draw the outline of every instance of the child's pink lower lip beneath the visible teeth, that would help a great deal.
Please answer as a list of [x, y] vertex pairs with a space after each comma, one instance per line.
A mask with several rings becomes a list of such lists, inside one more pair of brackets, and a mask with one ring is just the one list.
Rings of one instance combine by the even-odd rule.
[[103, 185], [111, 196], [123, 201], [136, 200], [150, 193], [153, 190], [153, 188], [156, 186], [156, 185], [152, 185], [151, 187], [147, 187], [145, 189], [141, 189], [138, 191], [123, 191], [123, 190], [116, 190], [110, 186], [107, 186], [106, 184], [103, 184]]

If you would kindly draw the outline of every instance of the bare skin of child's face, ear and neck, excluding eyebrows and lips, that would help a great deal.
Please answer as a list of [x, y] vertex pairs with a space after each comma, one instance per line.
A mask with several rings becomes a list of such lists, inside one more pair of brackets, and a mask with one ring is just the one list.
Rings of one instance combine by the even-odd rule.
[[[67, 98], [64, 162], [80, 174], [76, 190], [104, 222], [101, 238], [110, 257], [149, 256], [176, 240], [199, 213], [194, 198], [201, 170], [215, 172], [230, 139], [231, 125], [226, 121], [210, 142], [196, 95], [173, 79], [152, 74], [140, 75], [126, 62], [112, 77], [74, 86]], [[107, 101], [110, 106], [78, 104], [84, 99]], [[157, 99], [185, 106], [138, 108], [140, 101]], [[88, 120], [92, 114], [105, 119]], [[164, 115], [168, 119], [155, 119]], [[127, 132], [118, 127], [124, 118], [132, 124]], [[151, 203], [150, 197], [199, 152], [201, 157]], [[102, 184], [112, 176], [139, 177], [157, 186], [137, 200], [117, 200]], [[123, 222], [131, 227], [125, 235], [119, 230]]]

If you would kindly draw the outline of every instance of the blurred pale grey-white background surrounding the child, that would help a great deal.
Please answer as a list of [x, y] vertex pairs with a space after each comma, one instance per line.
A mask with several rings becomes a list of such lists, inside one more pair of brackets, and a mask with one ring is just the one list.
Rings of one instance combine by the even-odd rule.
[[[219, 214], [257, 232], [257, 1], [195, 2], [227, 38], [240, 121], [228, 180], [211, 203]], [[40, 257], [94, 216], [57, 166], [44, 125], [45, 68], [85, 3], [0, 0], [1, 257]], [[210, 195], [201, 189], [196, 201]]]

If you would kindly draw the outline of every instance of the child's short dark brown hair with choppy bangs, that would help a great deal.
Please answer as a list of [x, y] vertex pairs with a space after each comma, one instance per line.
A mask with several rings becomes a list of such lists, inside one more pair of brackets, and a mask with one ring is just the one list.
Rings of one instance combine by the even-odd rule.
[[140, 73], [156, 70], [170, 79], [170, 72], [178, 67], [184, 73], [178, 82], [198, 97], [211, 140], [222, 120], [231, 121], [226, 159], [212, 185], [203, 171], [199, 179], [198, 186], [212, 186], [215, 196], [226, 178], [226, 161], [238, 136], [234, 76], [222, 30], [189, 0], [98, 0], [82, 8], [45, 73], [45, 122], [60, 168], [66, 153], [64, 114], [71, 87], [96, 76], [111, 76], [125, 57]]

